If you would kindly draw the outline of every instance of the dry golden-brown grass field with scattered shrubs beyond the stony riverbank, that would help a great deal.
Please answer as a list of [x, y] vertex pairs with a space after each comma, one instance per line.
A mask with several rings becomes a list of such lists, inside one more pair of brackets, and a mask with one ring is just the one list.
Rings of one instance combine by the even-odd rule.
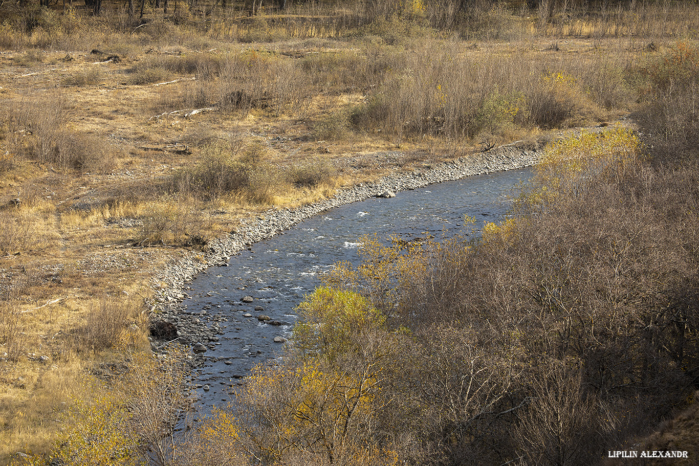
[[565, 5], [0, 1], [0, 464], [150, 351], [167, 261], [271, 206], [614, 124], [699, 30], [690, 3]]

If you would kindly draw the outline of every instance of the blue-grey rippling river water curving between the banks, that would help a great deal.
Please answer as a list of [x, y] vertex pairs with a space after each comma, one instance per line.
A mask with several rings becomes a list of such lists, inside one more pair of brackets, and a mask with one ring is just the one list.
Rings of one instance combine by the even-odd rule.
[[[227, 267], [201, 272], [189, 286], [191, 298], [182, 302], [183, 312], [215, 316], [222, 335], [194, 373], [199, 411], [225, 405], [231, 386], [281, 351], [274, 338], [289, 336], [294, 308], [319, 286], [320, 275], [333, 263], [359, 260], [362, 235], [448, 238], [461, 231], [466, 215], [475, 217], [479, 228], [485, 221], [500, 221], [514, 190], [530, 176], [530, 168], [489, 173], [336, 207], [252, 245]], [[254, 301], [242, 303], [244, 296]], [[259, 321], [261, 314], [272, 320]]]

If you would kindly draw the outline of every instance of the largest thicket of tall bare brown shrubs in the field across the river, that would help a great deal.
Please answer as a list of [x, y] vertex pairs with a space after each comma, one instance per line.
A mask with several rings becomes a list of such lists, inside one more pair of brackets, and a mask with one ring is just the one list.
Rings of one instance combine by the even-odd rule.
[[[462, 54], [454, 43], [427, 46], [406, 54], [399, 71], [352, 110], [352, 124], [398, 138], [458, 140], [507, 135], [520, 126], [570, 126], [595, 114], [579, 78], [563, 71], [574, 64], [558, 63], [561, 71], [545, 73], [541, 66], [519, 57]], [[595, 92], [600, 103], [609, 97], [603, 89]]]

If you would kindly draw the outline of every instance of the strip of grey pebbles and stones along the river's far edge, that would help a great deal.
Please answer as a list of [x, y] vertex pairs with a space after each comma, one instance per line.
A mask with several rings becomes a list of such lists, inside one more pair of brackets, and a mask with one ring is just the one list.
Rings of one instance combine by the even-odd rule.
[[155, 277], [154, 301], [151, 303], [151, 333], [156, 337], [156, 341], [152, 342], [153, 349], [161, 349], [166, 342], [173, 340], [191, 345], [195, 352], [217, 345], [219, 321], [223, 321], [224, 317], [220, 313], [214, 314], [213, 310], [202, 310], [196, 314], [183, 310], [180, 302], [188, 298], [187, 283], [212, 265], [227, 265], [231, 256], [255, 242], [282, 233], [320, 212], [372, 196], [388, 197], [405, 189], [460, 180], [470, 175], [533, 166], [539, 160], [540, 150], [541, 147], [512, 143], [485, 153], [439, 163], [432, 168], [395, 173], [373, 183], [361, 183], [318, 203], [294, 209], [273, 208], [243, 220], [238, 231], [210, 242], [203, 258], [201, 254], [192, 254], [168, 265]]

